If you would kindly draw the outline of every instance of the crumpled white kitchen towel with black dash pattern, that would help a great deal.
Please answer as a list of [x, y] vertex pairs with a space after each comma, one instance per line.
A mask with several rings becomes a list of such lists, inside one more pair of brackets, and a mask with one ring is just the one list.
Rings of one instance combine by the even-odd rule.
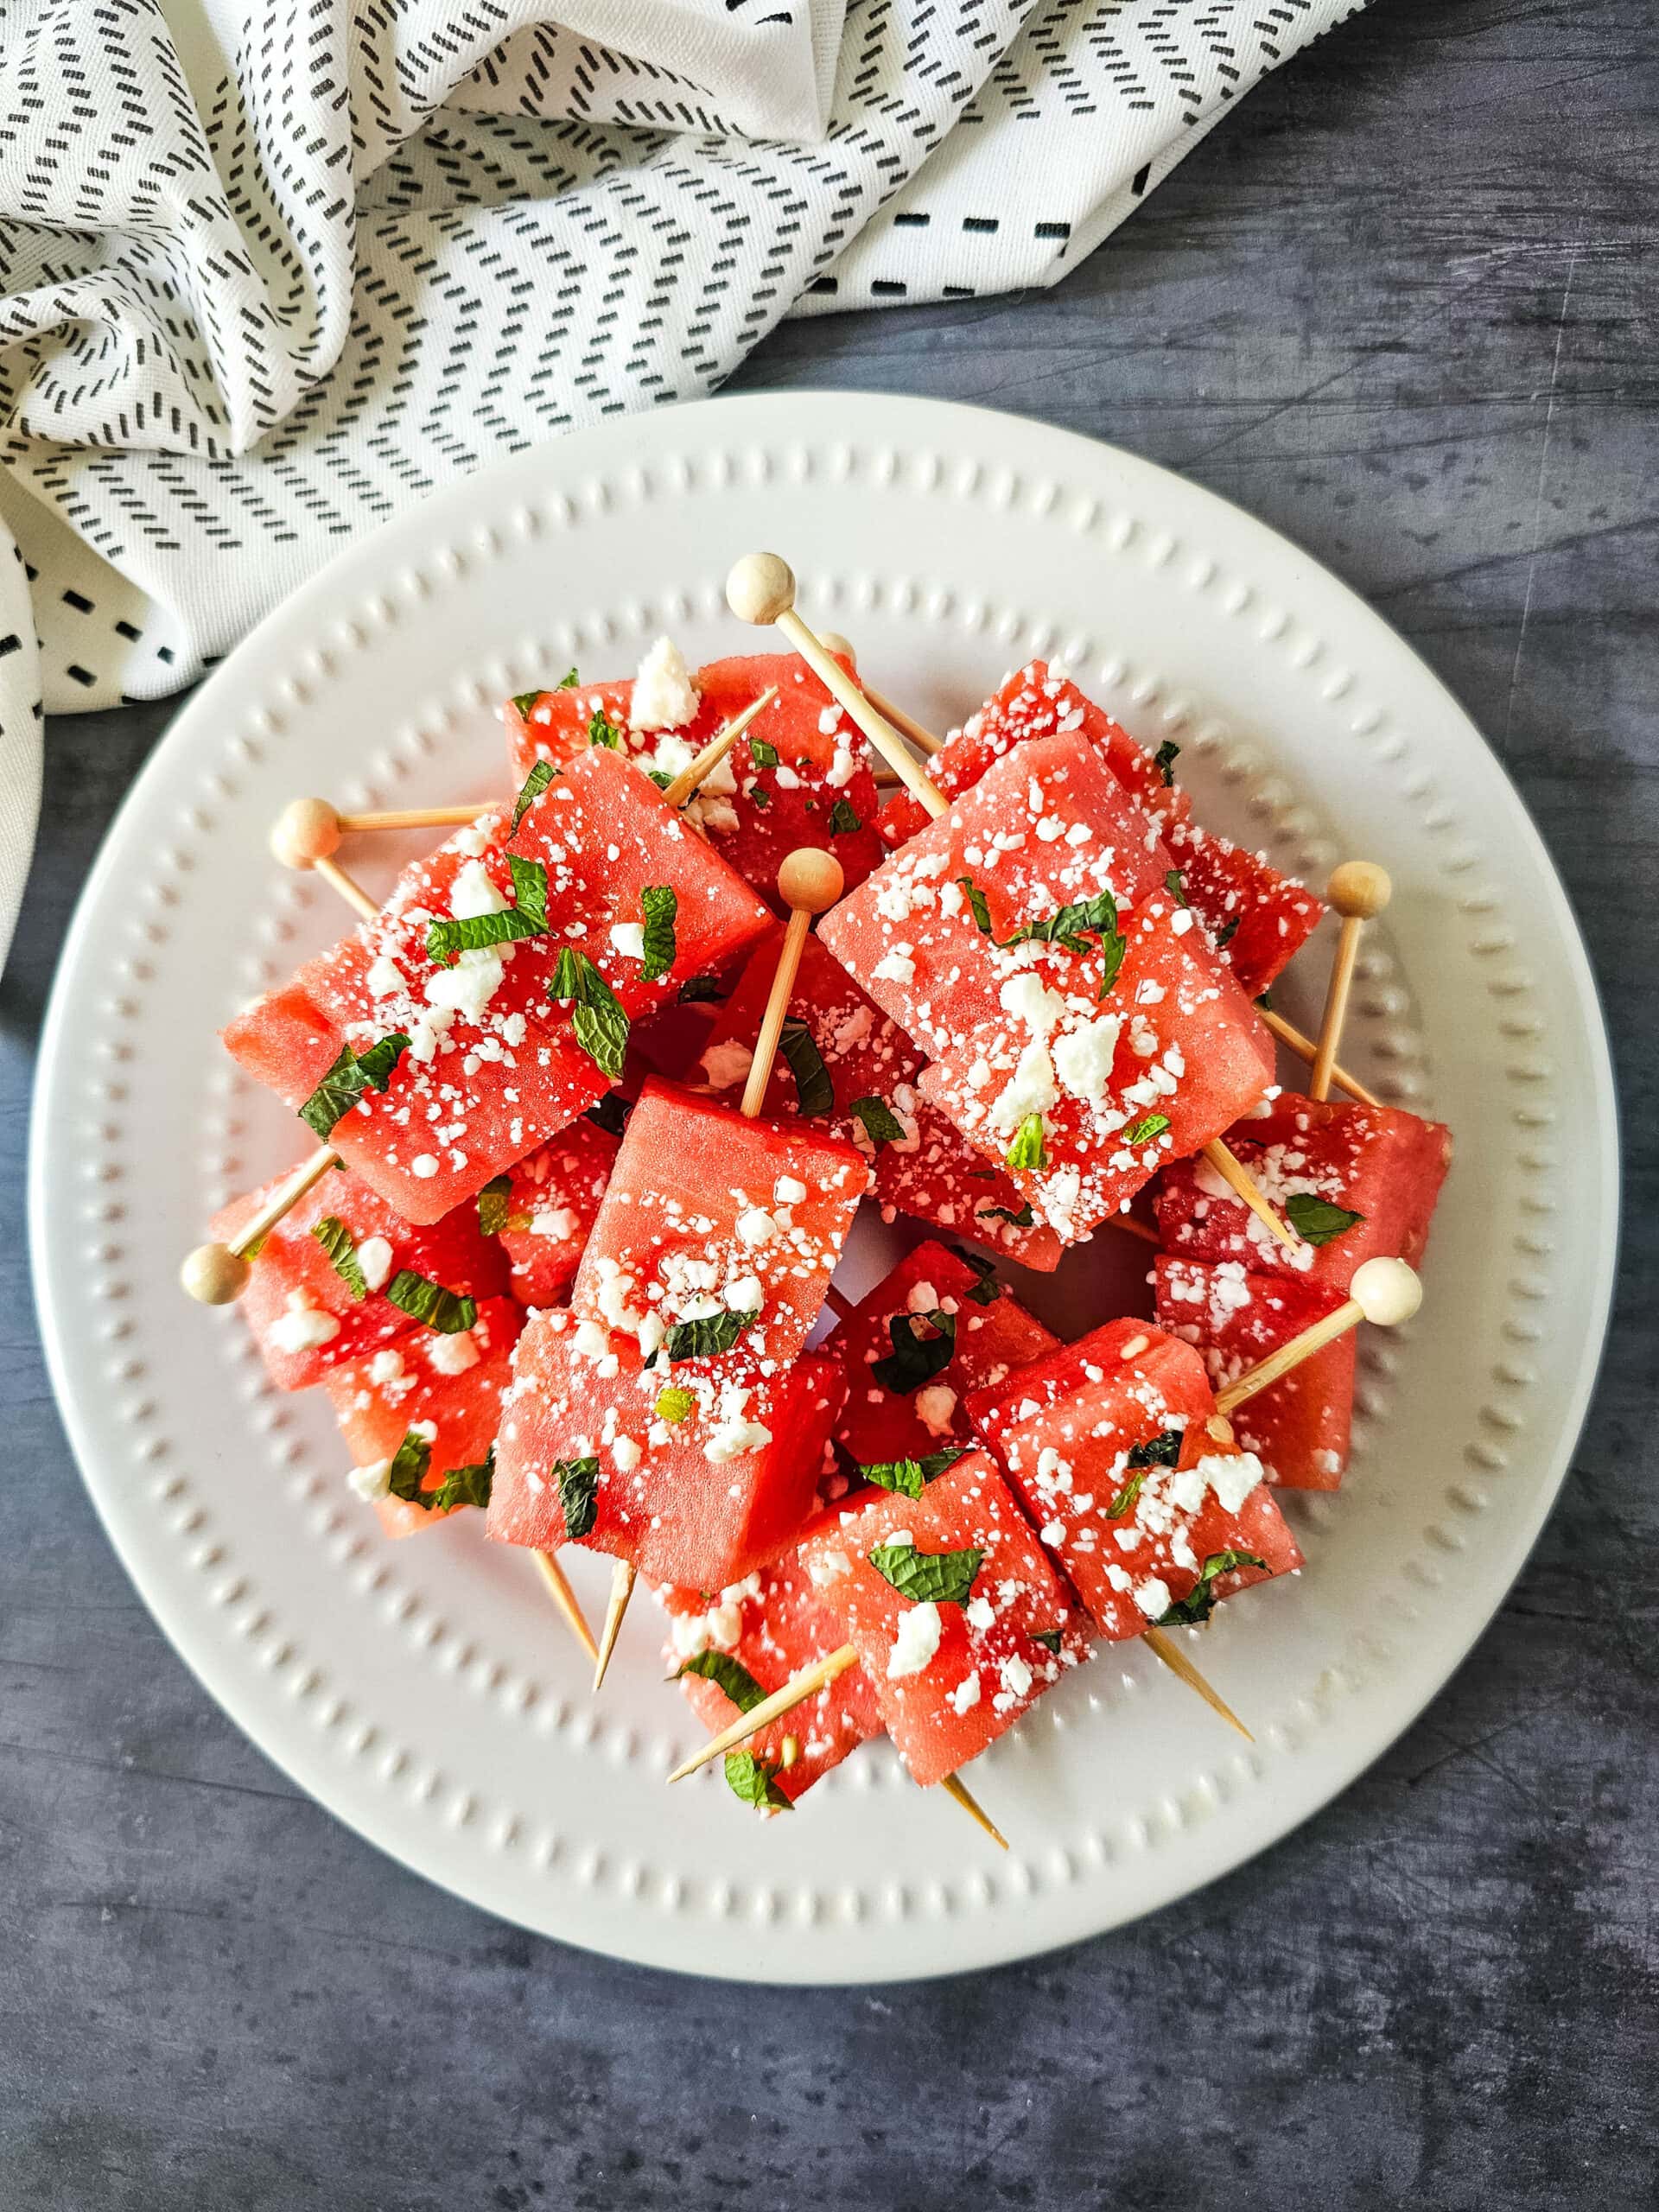
[[0, 522], [46, 708], [175, 690], [345, 540], [708, 394], [792, 310], [1053, 283], [1356, 4], [0, 0]]

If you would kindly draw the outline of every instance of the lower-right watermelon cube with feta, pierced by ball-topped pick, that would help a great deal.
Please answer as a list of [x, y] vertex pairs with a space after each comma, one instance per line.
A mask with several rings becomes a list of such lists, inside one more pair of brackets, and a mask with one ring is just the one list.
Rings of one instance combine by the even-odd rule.
[[[975, 1427], [1108, 1641], [1144, 1635], [1201, 1579], [1230, 1597], [1303, 1564], [1203, 1360], [1150, 1323], [1110, 1321], [982, 1400]], [[1175, 1464], [1130, 1464], [1164, 1436]], [[1263, 1564], [1206, 1577], [1230, 1553]]]

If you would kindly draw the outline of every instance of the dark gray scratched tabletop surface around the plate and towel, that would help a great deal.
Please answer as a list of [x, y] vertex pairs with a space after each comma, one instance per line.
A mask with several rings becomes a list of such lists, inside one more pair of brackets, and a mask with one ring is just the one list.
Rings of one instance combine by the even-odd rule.
[[1613, 1009], [1624, 1305], [1537, 1555], [1371, 1774], [1141, 1927], [887, 1993], [675, 1982], [440, 1896], [241, 1741], [111, 1559], [35, 1345], [33, 1037], [168, 710], [53, 728], [0, 989], [7, 2212], [1655, 2201], [1652, 31], [1378, 0], [1060, 290], [814, 321], [743, 376], [1099, 431], [1312, 546], [1489, 732]]

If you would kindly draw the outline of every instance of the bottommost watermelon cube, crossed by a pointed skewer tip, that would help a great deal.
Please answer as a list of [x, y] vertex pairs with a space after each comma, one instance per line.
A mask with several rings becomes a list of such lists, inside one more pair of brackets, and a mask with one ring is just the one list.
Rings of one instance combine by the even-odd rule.
[[[730, 1728], [741, 1708], [717, 1681], [681, 1674], [688, 1659], [726, 1652], [761, 1690], [772, 1692], [847, 1641], [841, 1621], [818, 1601], [794, 1553], [785, 1553], [774, 1566], [757, 1568], [712, 1601], [706, 1590], [672, 1584], [664, 1584], [657, 1597], [668, 1613], [664, 1661], [670, 1674], [679, 1677], [686, 1703], [710, 1736]], [[849, 1666], [816, 1697], [785, 1712], [759, 1736], [750, 1736], [743, 1750], [768, 1767], [779, 1790], [794, 1803], [830, 1767], [838, 1767], [847, 1752], [880, 1732], [880, 1705], [869, 1677], [860, 1666]]]

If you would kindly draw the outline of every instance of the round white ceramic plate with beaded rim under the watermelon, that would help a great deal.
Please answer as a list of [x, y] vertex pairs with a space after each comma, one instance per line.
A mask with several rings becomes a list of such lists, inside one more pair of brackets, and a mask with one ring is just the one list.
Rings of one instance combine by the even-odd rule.
[[[891, 1750], [759, 1823], [699, 1741], [637, 1601], [595, 1703], [529, 1564], [476, 1515], [385, 1544], [321, 1394], [263, 1380], [175, 1270], [208, 1210], [301, 1152], [215, 1024], [338, 936], [265, 858], [296, 792], [504, 790], [495, 701], [765, 644], [723, 611], [774, 546], [801, 604], [942, 728], [1046, 653], [1148, 741], [1201, 818], [1323, 880], [1387, 865], [1345, 1057], [1431, 1106], [1458, 1161], [1427, 1307], [1369, 1345], [1354, 1471], [1290, 1500], [1307, 1573], [1223, 1606], [1201, 1657], [1230, 1736], [1139, 1646], [1104, 1648], [975, 1763], [995, 1854]], [[389, 883], [394, 854], [361, 872]], [[1325, 945], [1281, 989], [1316, 1020]], [[53, 1380], [148, 1606], [241, 1728], [396, 1858], [568, 1942], [699, 1973], [949, 1973], [1115, 1927], [1325, 1805], [1491, 1619], [1555, 1498], [1608, 1307], [1617, 1139], [1590, 971], [1551, 863], [1460, 708], [1272, 531], [1126, 453], [894, 398], [743, 398], [524, 453], [345, 553], [197, 692], [93, 872], [35, 1099], [33, 1252]], [[854, 1287], [880, 1232], [843, 1263]], [[1128, 1239], [1035, 1283], [1079, 1327], [1135, 1292]], [[602, 1606], [606, 1571], [571, 1555]], [[1387, 1838], [1383, 1838], [1387, 1851]]]

